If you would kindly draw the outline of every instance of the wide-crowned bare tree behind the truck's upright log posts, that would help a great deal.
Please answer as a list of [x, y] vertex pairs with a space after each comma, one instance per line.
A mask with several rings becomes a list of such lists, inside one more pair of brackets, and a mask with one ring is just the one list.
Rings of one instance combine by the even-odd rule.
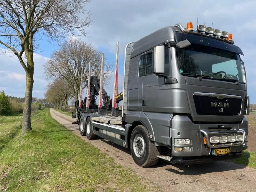
[[[44, 64], [45, 75], [48, 79], [63, 78], [73, 88], [75, 99], [80, 89], [81, 73], [83, 73], [83, 88], [87, 86], [89, 61], [91, 61], [92, 75], [99, 76], [101, 66], [101, 53], [91, 44], [78, 38], [70, 38], [60, 44], [60, 50], [52, 53], [51, 58]], [[105, 64], [104, 82], [108, 84], [112, 65]]]

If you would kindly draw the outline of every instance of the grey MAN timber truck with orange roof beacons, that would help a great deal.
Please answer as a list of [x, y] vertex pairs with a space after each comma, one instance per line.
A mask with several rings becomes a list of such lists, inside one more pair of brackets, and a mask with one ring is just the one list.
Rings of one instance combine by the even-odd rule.
[[[111, 100], [111, 111], [104, 110], [102, 92], [98, 111], [91, 109], [91, 86], [86, 107], [78, 109], [80, 133], [130, 148], [141, 167], [159, 159], [199, 164], [239, 157], [247, 149], [244, 115], [249, 114], [240, 55], [232, 34], [204, 25], [194, 30], [192, 23], [187, 28], [180, 23], [165, 27], [131, 42], [125, 48], [124, 88], [118, 95], [123, 97], [122, 111], [117, 100]], [[102, 76], [99, 90], [101, 81]]]

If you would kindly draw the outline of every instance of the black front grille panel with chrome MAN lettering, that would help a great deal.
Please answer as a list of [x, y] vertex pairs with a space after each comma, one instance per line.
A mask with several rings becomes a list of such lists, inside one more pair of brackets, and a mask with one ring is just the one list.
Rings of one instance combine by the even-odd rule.
[[193, 98], [198, 115], [238, 116], [241, 113], [241, 96], [195, 92]]

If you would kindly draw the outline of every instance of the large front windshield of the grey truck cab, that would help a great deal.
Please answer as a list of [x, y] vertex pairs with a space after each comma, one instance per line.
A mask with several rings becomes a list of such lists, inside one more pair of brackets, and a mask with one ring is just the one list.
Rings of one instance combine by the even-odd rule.
[[176, 56], [184, 76], [244, 83], [243, 67], [237, 53], [192, 44], [184, 49], [176, 47]]

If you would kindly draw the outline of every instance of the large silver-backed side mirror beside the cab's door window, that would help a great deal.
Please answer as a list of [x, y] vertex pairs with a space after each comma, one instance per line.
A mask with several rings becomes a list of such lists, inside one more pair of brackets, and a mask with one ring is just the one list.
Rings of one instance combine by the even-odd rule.
[[165, 65], [165, 46], [160, 45], [154, 47], [154, 68], [153, 73], [164, 74]]

